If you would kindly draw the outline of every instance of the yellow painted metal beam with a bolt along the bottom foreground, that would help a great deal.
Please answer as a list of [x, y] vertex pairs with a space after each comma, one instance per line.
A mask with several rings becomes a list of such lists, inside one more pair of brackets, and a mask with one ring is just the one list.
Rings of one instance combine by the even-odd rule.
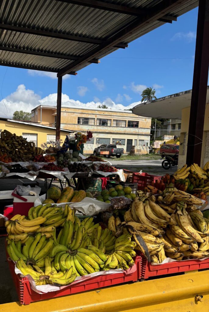
[[[195, 296], [203, 301], [196, 302]], [[118, 285], [21, 306], [0, 305], [0, 312], [209, 312], [209, 271]]]

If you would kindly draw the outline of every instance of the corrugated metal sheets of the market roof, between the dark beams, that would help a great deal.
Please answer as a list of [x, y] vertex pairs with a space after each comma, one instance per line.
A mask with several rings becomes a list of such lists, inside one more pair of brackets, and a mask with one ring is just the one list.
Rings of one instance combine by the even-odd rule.
[[[160, 4], [162, 1], [105, 0], [103, 2], [127, 7], [152, 9], [153, 6]], [[167, 12], [166, 14], [178, 17], [197, 6], [198, 0], [184, 0], [178, 2], [177, 7], [172, 12]], [[119, 30], [139, 19], [139, 17], [128, 14], [110, 12], [56, 0], [2, 0], [0, 16], [1, 24], [78, 37], [88, 37], [103, 41], [108, 40], [115, 33], [119, 32]], [[164, 22], [152, 20], [137, 31], [124, 36], [123, 43], [129, 43], [163, 24]], [[98, 45], [0, 29], [0, 46], [81, 57]], [[116, 49], [116, 47], [110, 46], [105, 51], [98, 52], [96, 58], [102, 58]], [[74, 61], [0, 50], [0, 62], [17, 66], [45, 68], [49, 71], [58, 72], [65, 66], [73, 64]], [[89, 65], [88, 62], [78, 64], [75, 70], [78, 71], [87, 65]]]

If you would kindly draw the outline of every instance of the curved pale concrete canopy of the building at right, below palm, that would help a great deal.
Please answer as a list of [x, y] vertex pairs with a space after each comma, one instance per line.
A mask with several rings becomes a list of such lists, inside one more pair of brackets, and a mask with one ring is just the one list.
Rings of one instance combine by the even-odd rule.
[[[181, 119], [182, 109], [191, 106], [192, 90], [187, 90], [172, 95], [163, 96], [151, 102], [144, 102], [133, 107], [132, 112], [136, 115]], [[207, 86], [206, 103], [209, 101], [209, 86]]]

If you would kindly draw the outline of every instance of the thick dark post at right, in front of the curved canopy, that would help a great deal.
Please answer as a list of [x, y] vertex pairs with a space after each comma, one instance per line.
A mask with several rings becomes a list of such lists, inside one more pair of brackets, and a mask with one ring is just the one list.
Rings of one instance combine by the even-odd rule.
[[199, 0], [197, 39], [189, 119], [187, 165], [201, 164], [209, 67], [209, 0]]

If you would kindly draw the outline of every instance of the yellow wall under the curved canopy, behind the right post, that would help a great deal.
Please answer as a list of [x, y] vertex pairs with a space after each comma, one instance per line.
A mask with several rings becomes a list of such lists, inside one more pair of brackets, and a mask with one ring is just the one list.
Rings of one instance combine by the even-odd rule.
[[[182, 125], [180, 135], [178, 168], [181, 168], [186, 163], [189, 116], [190, 116], [190, 107], [182, 109]], [[207, 161], [209, 161], [209, 105], [206, 105], [205, 110], [202, 151], [200, 150], [200, 153], [202, 153], [201, 166], [203, 166]]]

